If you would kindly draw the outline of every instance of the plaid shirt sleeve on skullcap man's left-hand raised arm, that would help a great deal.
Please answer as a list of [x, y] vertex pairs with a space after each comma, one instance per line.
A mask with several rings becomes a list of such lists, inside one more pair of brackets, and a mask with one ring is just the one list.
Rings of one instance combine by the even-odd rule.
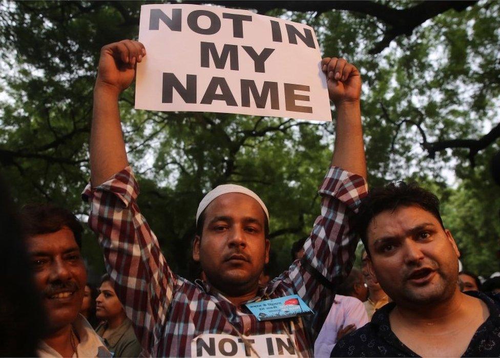
[[91, 204], [89, 226], [99, 235], [116, 293], [134, 322], [142, 347], [151, 348], [161, 338], [176, 277], [139, 212], [138, 194], [139, 187], [128, 166], [96, 188], [87, 185], [82, 197]]

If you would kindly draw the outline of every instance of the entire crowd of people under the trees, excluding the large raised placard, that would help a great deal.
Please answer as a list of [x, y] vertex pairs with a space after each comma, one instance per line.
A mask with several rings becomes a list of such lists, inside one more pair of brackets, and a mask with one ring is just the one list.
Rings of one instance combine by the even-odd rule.
[[[438, 198], [403, 182], [368, 191], [361, 76], [342, 58], [322, 61], [337, 113], [335, 149], [319, 187], [321, 213], [293, 245], [290, 266], [269, 278], [270, 213], [255, 192], [225, 184], [197, 209], [192, 255], [200, 278], [172, 272], [137, 205], [120, 124], [118, 97], [144, 56], [132, 40], [100, 54], [83, 193], [106, 262], [99, 288], [87, 282], [82, 227], [72, 213], [31, 204], [0, 215], [15, 238], [0, 254], [22, 263], [22, 282], [12, 287], [30, 302], [29, 319], [16, 316], [26, 297], [16, 302], [0, 290], [0, 326], [13, 327], [1, 355], [500, 355], [500, 278], [482, 283], [459, 274], [460, 252]], [[361, 270], [353, 269], [359, 239]], [[282, 298], [312, 313], [288, 309], [267, 319], [249, 309]]]

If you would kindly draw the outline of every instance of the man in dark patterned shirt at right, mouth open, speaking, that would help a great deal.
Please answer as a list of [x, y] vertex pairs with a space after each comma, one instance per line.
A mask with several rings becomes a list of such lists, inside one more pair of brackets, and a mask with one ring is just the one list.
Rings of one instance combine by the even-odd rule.
[[460, 292], [460, 254], [435, 195], [402, 182], [375, 189], [356, 230], [393, 302], [331, 356], [499, 356], [500, 295]]

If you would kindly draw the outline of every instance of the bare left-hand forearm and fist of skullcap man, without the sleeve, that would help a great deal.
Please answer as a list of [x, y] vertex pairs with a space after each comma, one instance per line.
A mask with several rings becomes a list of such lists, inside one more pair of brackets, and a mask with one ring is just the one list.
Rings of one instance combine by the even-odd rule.
[[134, 80], [135, 66], [145, 54], [142, 43], [132, 40], [110, 43], [101, 49], [90, 134], [93, 187], [129, 165], [121, 133], [118, 96]]

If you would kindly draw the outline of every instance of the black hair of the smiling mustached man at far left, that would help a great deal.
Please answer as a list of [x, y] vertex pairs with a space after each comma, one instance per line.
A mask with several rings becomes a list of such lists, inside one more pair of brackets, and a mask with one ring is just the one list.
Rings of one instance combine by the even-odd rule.
[[50, 234], [69, 228], [81, 249], [81, 233], [84, 228], [70, 211], [52, 204], [27, 204], [20, 211], [23, 233], [26, 237]]

